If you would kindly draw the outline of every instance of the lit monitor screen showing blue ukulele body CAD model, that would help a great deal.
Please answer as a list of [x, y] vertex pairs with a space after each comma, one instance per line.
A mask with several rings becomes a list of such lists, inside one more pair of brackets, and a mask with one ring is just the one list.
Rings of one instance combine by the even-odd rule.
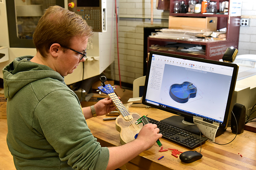
[[145, 100], [222, 124], [233, 69], [153, 54]]

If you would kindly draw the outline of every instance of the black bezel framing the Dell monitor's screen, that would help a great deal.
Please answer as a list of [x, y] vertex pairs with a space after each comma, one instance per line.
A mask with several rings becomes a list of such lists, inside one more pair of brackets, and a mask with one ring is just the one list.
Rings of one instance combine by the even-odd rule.
[[[178, 54], [150, 51], [149, 58], [148, 58], [148, 67], [147, 67], [147, 72], [146, 72], [146, 80], [145, 80], [144, 92], [143, 92], [143, 96], [142, 96], [142, 104], [145, 104], [147, 106], [150, 106], [150, 107], [153, 107], [153, 108], [156, 108], [156, 109], [164, 110], [164, 111], [167, 111], [169, 113], [173, 113], [173, 114], [182, 116], [185, 119], [190, 119], [190, 120], [191, 119], [193, 120], [193, 115], [192, 114], [184, 113], [183, 111], [176, 110], [176, 109], [166, 109], [164, 107], [157, 106], [157, 105], [154, 105], [154, 104], [151, 104], [151, 103], [147, 103], [145, 101], [146, 93], [147, 93], [147, 89], [148, 89], [149, 71], [150, 71], [150, 67], [151, 67], [151, 60], [152, 60], [152, 55], [153, 54], [163, 55], [163, 56], [167, 56], [167, 57], [174, 57], [174, 58], [184, 59], [184, 60], [199, 61], [199, 62], [216, 64], [216, 65], [221, 65], [221, 66], [228, 66], [228, 67], [233, 67], [234, 68], [232, 79], [231, 79], [231, 84], [230, 84], [230, 89], [229, 89], [228, 101], [227, 101], [227, 106], [228, 107], [226, 107], [223, 124], [220, 124], [221, 128], [226, 129], [227, 126], [228, 126], [228, 120], [229, 120], [230, 112], [231, 112], [231, 110], [233, 108], [231, 106], [231, 103], [232, 103], [232, 96], [234, 95], [234, 90], [235, 90], [235, 85], [236, 85], [236, 78], [237, 78], [239, 66], [237, 64], [234, 64], [234, 63], [221, 62], [221, 61], [215, 61], [215, 60], [207, 60], [207, 59], [203, 59], [203, 58], [189, 57], [189, 56], [178, 55]], [[212, 122], [212, 121], [208, 121], [207, 120], [207, 122]]]

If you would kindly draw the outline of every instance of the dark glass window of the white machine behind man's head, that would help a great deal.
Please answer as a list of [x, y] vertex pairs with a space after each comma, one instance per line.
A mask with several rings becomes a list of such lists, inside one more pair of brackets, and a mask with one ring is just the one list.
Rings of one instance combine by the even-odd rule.
[[15, 0], [17, 37], [32, 39], [44, 9], [54, 4], [56, 0]]

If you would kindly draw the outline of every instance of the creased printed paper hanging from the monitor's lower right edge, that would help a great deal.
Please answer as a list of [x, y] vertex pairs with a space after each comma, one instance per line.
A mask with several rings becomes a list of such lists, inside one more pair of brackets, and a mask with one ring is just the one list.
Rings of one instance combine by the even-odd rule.
[[220, 124], [213, 122], [208, 123], [203, 121], [203, 118], [199, 118], [194, 116], [194, 124], [198, 127], [198, 129], [202, 132], [205, 138], [209, 139], [212, 142], [215, 142], [216, 132]]

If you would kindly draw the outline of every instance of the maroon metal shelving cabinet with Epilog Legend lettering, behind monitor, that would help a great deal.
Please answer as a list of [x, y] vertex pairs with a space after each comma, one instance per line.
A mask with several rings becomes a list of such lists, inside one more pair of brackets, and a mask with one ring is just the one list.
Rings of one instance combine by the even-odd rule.
[[[188, 0], [186, 0], [188, 3]], [[219, 10], [219, 3], [223, 0], [214, 0], [217, 2], [217, 10]], [[205, 58], [210, 60], [219, 60], [222, 59], [223, 54], [225, 53], [228, 47], [233, 46], [234, 48], [238, 48], [239, 41], [239, 30], [240, 30], [240, 18], [241, 16], [235, 16], [232, 14], [232, 9], [234, 4], [232, 0], [229, 0], [228, 12], [226, 14], [201, 14], [201, 13], [174, 13], [173, 6], [174, 0], [170, 0], [170, 16], [178, 16], [178, 17], [193, 17], [193, 18], [205, 18], [205, 17], [217, 17], [217, 30], [221, 28], [227, 28], [226, 32], [226, 40], [216, 40], [216, 41], [184, 41], [179, 39], [168, 39], [168, 38], [150, 38], [148, 37], [148, 52], [152, 49], [149, 48], [151, 45], [160, 45], [165, 46], [169, 43], [184, 43], [184, 44], [194, 44], [200, 45], [205, 49], [205, 54], [191, 54], [191, 53], [183, 53], [180, 51], [167, 51], [161, 50], [166, 53], [174, 53], [179, 55], [186, 55], [192, 57]]]

